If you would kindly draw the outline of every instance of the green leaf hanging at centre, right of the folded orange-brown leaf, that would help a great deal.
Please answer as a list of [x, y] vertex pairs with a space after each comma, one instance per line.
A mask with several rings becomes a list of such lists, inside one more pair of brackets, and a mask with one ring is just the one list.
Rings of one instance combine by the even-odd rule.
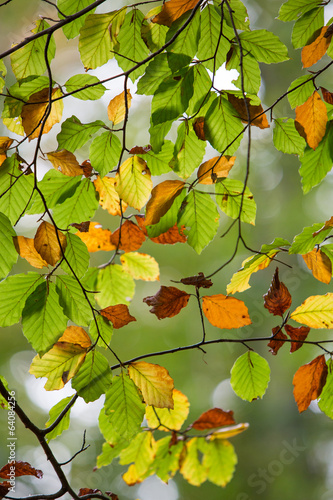
[[184, 199], [179, 212], [178, 225], [184, 225], [187, 243], [200, 254], [214, 238], [219, 227], [219, 214], [209, 194], [192, 190]]

